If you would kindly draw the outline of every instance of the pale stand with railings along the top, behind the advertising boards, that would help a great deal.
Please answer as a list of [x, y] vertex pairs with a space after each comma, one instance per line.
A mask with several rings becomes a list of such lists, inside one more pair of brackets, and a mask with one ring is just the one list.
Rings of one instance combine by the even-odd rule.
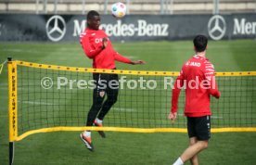
[[[1, 13], [109, 14], [116, 0], [0, 0]], [[120, 0], [127, 14], [219, 14], [256, 12], [256, 0]]]

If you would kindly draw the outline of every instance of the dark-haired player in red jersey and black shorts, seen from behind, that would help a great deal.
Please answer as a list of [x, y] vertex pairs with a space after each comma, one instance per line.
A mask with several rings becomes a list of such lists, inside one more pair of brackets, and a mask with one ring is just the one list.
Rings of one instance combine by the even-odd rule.
[[186, 61], [173, 86], [172, 109], [169, 119], [177, 117], [178, 97], [181, 87], [186, 88], [184, 114], [187, 118], [189, 146], [173, 165], [183, 165], [188, 159], [198, 165], [198, 153], [208, 147], [211, 138], [210, 96], [220, 97], [214, 76], [214, 68], [205, 57], [208, 39], [198, 35], [194, 39], [196, 55]]

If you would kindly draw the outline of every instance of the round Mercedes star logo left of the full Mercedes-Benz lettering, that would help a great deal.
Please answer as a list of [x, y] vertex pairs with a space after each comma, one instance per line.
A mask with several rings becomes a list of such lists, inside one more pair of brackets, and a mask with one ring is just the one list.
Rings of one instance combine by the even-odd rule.
[[58, 15], [48, 19], [46, 23], [46, 33], [48, 38], [53, 42], [61, 40], [66, 33], [65, 20]]

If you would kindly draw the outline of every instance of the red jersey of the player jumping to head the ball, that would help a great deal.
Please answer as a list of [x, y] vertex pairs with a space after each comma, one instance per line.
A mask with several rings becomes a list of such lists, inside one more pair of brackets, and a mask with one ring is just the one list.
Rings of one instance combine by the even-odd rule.
[[85, 55], [93, 59], [93, 68], [95, 69], [115, 69], [115, 60], [130, 63], [131, 59], [122, 57], [112, 47], [108, 38], [108, 45], [102, 49], [102, 39], [108, 38], [107, 34], [102, 30], [91, 30], [86, 28], [80, 35], [80, 43], [82, 44]]

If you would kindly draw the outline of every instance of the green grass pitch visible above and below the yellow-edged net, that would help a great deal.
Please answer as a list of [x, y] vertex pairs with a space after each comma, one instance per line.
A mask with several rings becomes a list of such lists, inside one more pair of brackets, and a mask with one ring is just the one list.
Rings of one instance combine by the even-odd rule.
[[[216, 71], [256, 70], [255, 45], [256, 42], [253, 40], [210, 41], [207, 55], [214, 64]], [[143, 59], [147, 62], [147, 65], [144, 66], [117, 63], [117, 68], [122, 70], [179, 71], [186, 59], [194, 55], [193, 45], [190, 41], [145, 42], [135, 44], [115, 43], [114, 47], [123, 56], [133, 59]], [[91, 68], [92, 63], [91, 60], [83, 55], [80, 44], [1, 43], [0, 62], [3, 62], [6, 57], [13, 57], [14, 60], [83, 68]], [[5, 66], [0, 75], [0, 165], [8, 164], [6, 71]], [[253, 90], [253, 84], [255, 83], [252, 82], [250, 85], [252, 85]], [[255, 100], [255, 95], [246, 96], [250, 97], [246, 97], [248, 102]], [[167, 100], [169, 99], [167, 98]], [[120, 102], [123, 102], [123, 100], [120, 100]], [[250, 122], [255, 127], [255, 102], [250, 105], [254, 110], [253, 113], [243, 115], [249, 116], [248, 118], [251, 119]], [[228, 105], [224, 106], [221, 107], [227, 108], [233, 105], [229, 102]], [[182, 109], [180, 109], [181, 111]], [[233, 111], [231, 110], [225, 114], [226, 116], [231, 116], [228, 118], [228, 121], [232, 120], [230, 119], [233, 118], [232, 113]], [[112, 115], [112, 112], [109, 115]], [[224, 121], [222, 123], [225, 125]], [[24, 130], [26, 131], [26, 129]], [[97, 133], [93, 133], [96, 152], [91, 153], [83, 146], [79, 139], [79, 132], [32, 134], [15, 144], [14, 164], [163, 165], [172, 164], [187, 146], [186, 133], [108, 132], [107, 135], [108, 137], [106, 139], [101, 139]], [[255, 139], [256, 133], [212, 133], [210, 146], [206, 151], [199, 154], [199, 160], [201, 164], [210, 165], [254, 164], [256, 161], [254, 157], [254, 153], [256, 152]]]

